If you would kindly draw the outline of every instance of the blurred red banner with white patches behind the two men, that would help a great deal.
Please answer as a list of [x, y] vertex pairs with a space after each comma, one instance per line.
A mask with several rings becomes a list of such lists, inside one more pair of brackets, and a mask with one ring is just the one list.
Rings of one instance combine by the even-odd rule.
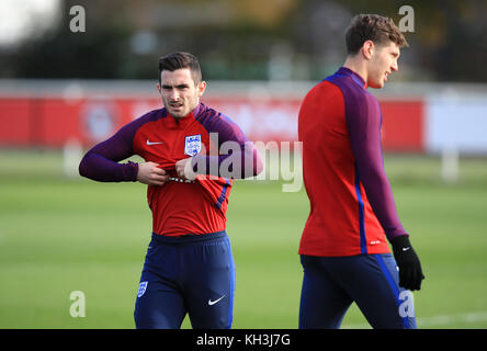
[[[294, 141], [301, 99], [248, 100], [206, 98], [207, 105], [236, 122], [250, 140]], [[385, 150], [423, 150], [422, 101], [383, 101]], [[160, 109], [159, 99], [0, 99], [0, 145], [63, 147], [79, 140], [84, 147], [106, 139], [121, 126]]]

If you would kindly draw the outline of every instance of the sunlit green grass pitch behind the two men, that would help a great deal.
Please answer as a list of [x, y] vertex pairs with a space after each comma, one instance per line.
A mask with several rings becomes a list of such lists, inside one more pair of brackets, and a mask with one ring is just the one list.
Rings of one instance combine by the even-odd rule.
[[[418, 326], [486, 328], [487, 161], [462, 159], [456, 184], [438, 181], [435, 158], [385, 165], [427, 276], [415, 293]], [[234, 328], [297, 327], [308, 201], [281, 186], [234, 183]], [[150, 231], [145, 185], [66, 179], [59, 152], [1, 150], [0, 328], [134, 328]], [[86, 317], [70, 316], [72, 291], [84, 293]], [[369, 328], [354, 305], [343, 327]]]

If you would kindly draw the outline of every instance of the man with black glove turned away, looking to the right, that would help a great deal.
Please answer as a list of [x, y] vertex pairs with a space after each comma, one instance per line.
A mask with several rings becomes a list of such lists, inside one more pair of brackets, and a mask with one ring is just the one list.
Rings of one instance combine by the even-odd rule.
[[393, 20], [376, 14], [355, 16], [346, 42], [343, 67], [299, 110], [310, 202], [299, 245], [299, 328], [339, 328], [353, 302], [373, 328], [416, 328], [409, 291], [424, 276], [384, 170], [381, 106], [366, 90], [398, 69], [407, 42]]

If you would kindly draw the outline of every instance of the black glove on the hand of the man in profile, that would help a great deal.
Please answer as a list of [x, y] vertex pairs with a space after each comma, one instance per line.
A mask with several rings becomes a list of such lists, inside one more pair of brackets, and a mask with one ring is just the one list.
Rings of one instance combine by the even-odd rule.
[[390, 244], [397, 267], [399, 267], [399, 286], [410, 291], [420, 290], [424, 275], [421, 262], [409, 242], [409, 237], [407, 235], [395, 237]]

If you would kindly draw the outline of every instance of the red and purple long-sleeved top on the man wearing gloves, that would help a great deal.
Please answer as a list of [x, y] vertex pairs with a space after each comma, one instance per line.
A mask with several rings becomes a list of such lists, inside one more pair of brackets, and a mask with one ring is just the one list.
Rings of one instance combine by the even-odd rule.
[[407, 235], [384, 170], [381, 128], [378, 101], [346, 67], [305, 97], [298, 138], [310, 213], [301, 254], [386, 253], [386, 238]]

